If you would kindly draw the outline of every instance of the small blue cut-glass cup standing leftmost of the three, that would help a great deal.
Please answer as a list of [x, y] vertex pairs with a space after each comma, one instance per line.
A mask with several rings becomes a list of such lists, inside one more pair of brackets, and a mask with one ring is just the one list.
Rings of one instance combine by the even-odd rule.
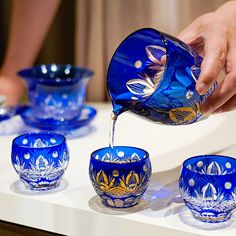
[[24, 185], [36, 191], [56, 188], [69, 162], [64, 136], [56, 133], [27, 133], [12, 141], [11, 160]]

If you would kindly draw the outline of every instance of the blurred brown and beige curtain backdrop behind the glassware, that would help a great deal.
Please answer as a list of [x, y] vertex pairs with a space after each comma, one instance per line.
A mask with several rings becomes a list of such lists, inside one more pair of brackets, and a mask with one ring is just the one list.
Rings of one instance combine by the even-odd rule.
[[[198, 16], [214, 11], [224, 2], [62, 0], [35, 64], [71, 63], [89, 67], [95, 71], [95, 76], [88, 87], [88, 99], [104, 101], [108, 99], [105, 80], [110, 58], [128, 34], [138, 28], [153, 27], [178, 35]], [[12, 0], [0, 1], [1, 63], [7, 44], [12, 3]]]

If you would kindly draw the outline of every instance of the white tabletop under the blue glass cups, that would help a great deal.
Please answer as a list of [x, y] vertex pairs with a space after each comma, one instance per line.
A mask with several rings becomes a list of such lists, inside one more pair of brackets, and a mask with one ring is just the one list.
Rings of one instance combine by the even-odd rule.
[[[10, 159], [14, 135], [0, 136], [0, 219], [65, 235], [236, 235], [236, 217], [222, 225], [192, 219], [179, 198], [178, 177], [184, 159], [197, 154], [236, 155], [236, 112], [215, 115], [189, 126], [161, 126], [132, 114], [117, 121], [115, 145], [146, 149], [153, 175], [144, 199], [135, 207], [104, 207], [88, 176], [90, 153], [108, 145], [111, 106], [98, 111], [86, 135], [68, 140], [70, 163], [58, 189], [27, 191]], [[10, 121], [9, 121], [10, 122]], [[1, 129], [1, 126], [0, 126]]]

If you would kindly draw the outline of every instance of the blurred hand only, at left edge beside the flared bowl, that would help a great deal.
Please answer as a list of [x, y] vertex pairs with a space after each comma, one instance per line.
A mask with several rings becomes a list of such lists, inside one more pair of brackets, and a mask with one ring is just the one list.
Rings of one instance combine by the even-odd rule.
[[25, 90], [25, 83], [17, 76], [0, 74], [0, 96], [5, 98], [4, 104], [15, 106], [18, 104]]

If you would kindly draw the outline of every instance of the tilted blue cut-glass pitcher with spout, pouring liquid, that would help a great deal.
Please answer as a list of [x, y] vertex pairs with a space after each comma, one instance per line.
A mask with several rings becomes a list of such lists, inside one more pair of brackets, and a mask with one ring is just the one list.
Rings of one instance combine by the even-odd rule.
[[109, 65], [107, 87], [116, 115], [130, 110], [167, 125], [203, 119], [200, 105], [215, 90], [195, 89], [202, 57], [179, 39], [144, 28], [119, 45]]

